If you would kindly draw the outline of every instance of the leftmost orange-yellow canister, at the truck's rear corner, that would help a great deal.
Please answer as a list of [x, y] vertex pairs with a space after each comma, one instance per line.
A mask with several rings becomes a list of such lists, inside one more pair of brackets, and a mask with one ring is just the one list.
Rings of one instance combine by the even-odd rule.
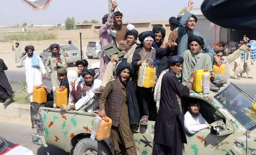
[[47, 93], [44, 88], [39, 86], [33, 87], [33, 102], [37, 104], [42, 104], [47, 101]]

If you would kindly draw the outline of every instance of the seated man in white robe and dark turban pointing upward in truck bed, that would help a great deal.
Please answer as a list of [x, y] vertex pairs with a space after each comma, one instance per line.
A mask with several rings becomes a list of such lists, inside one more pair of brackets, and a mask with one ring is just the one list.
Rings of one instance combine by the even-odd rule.
[[[74, 105], [65, 105], [61, 104], [60, 109], [64, 111], [69, 110], [79, 110], [82, 106], [87, 104], [91, 99], [94, 97], [95, 93], [93, 92], [94, 89], [97, 89], [101, 86], [101, 80], [94, 79], [96, 76], [95, 70], [93, 69], [83, 69], [81, 72], [81, 76], [84, 78], [85, 81], [81, 82], [80, 87], [78, 85], [77, 90], [75, 89], [75, 84], [71, 83], [72, 85], [72, 91], [71, 95], [73, 98], [76, 98], [78, 102]], [[99, 103], [92, 104], [89, 106], [86, 110], [88, 112], [97, 110], [97, 107], [99, 107]]]

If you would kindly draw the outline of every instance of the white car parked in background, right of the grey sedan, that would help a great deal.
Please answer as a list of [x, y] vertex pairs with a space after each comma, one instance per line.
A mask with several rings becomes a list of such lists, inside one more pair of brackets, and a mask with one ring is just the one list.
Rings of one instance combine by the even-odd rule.
[[93, 57], [101, 58], [101, 42], [88, 42], [86, 56], [88, 59], [93, 59]]

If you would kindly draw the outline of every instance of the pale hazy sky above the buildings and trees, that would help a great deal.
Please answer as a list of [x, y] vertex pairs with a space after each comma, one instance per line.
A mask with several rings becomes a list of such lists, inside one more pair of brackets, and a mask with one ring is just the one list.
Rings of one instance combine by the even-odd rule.
[[[57, 25], [74, 16], [76, 23], [96, 19], [108, 13], [108, 0], [52, 0], [43, 10], [34, 11], [23, 0], [2, 0], [0, 25]], [[188, 6], [188, 0], [116, 0], [122, 10], [123, 22], [164, 21]], [[194, 0], [194, 8], [200, 8], [203, 0]]]

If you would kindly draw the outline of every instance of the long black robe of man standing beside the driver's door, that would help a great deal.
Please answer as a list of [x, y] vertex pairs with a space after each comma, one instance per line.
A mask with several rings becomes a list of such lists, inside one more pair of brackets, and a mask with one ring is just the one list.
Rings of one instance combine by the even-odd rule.
[[184, 117], [180, 112], [176, 94], [181, 97], [188, 96], [190, 90], [178, 81], [176, 74], [171, 69], [163, 75], [162, 85], [165, 87], [161, 87], [160, 106], [155, 121], [154, 143], [177, 148], [179, 144], [175, 144], [175, 142], [179, 142], [179, 140], [175, 139], [177, 138], [176, 134], [180, 134], [182, 143], [187, 143], [187, 140]]

